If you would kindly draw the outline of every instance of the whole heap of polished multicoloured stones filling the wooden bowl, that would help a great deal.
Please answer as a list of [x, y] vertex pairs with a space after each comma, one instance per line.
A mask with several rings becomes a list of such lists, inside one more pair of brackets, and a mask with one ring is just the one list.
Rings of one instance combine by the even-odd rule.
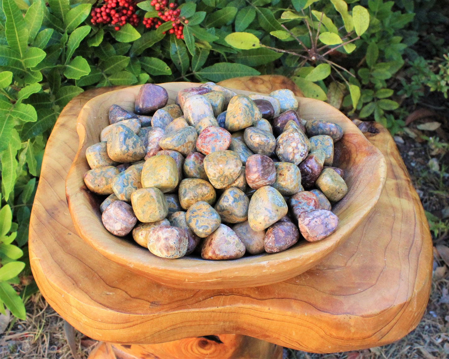
[[341, 127], [299, 118], [288, 89], [245, 96], [209, 82], [167, 102], [163, 87], [143, 85], [135, 113], [112, 105], [86, 150], [86, 186], [110, 195], [109, 232], [132, 231], [162, 258], [235, 259], [335, 231], [330, 202], [348, 192], [332, 167]]

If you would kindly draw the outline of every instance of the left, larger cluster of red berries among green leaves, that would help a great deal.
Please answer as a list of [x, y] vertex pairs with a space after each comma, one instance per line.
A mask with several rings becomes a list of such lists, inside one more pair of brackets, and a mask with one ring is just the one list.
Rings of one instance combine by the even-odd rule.
[[131, 0], [104, 0], [101, 7], [92, 10], [90, 15], [92, 24], [115, 25], [116, 31], [120, 26], [129, 22], [132, 26], [137, 26], [139, 18], [136, 15], [136, 3]]

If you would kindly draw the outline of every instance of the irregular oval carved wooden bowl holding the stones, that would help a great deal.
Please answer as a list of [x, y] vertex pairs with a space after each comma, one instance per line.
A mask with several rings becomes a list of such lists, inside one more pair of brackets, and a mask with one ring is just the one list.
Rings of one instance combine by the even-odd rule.
[[[198, 84], [163, 83], [161, 86], [167, 89], [168, 103], [174, 103], [179, 90]], [[84, 105], [77, 123], [78, 153], [66, 177], [67, 202], [79, 235], [106, 258], [128, 267], [138, 275], [167, 286], [186, 289], [255, 287], [277, 283], [297, 276], [320, 262], [348, 238], [379, 199], [386, 179], [386, 163], [382, 153], [339, 110], [322, 101], [299, 97], [302, 118], [338, 123], [344, 131], [343, 138], [335, 144], [334, 164], [345, 170], [344, 179], [349, 191], [333, 207], [340, 220], [337, 230], [324, 240], [300, 241], [280, 253], [226, 261], [194, 257], [159, 258], [137, 245], [132, 238], [114, 236], [103, 227], [99, 210], [102, 199], [91, 193], [83, 180], [84, 173], [90, 169], [85, 151], [88, 146], [99, 142], [101, 130], [109, 124], [110, 105], [117, 104], [133, 110], [139, 88], [134, 86], [107, 92]], [[85, 258], [85, 261], [87, 263], [89, 258]]]

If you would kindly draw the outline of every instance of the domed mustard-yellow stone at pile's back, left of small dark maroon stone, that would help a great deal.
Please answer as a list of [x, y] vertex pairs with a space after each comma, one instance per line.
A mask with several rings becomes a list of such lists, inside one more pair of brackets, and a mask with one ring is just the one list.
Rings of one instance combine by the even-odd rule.
[[228, 131], [238, 131], [252, 126], [262, 118], [255, 103], [245, 95], [234, 96], [226, 110], [225, 127]]

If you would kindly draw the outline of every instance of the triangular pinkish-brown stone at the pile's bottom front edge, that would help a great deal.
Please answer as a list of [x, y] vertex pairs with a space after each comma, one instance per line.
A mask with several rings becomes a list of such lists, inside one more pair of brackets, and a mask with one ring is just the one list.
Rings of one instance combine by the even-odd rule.
[[212, 260], [237, 259], [245, 254], [245, 250], [245, 245], [235, 232], [225, 224], [220, 224], [220, 227], [204, 240], [201, 257]]

